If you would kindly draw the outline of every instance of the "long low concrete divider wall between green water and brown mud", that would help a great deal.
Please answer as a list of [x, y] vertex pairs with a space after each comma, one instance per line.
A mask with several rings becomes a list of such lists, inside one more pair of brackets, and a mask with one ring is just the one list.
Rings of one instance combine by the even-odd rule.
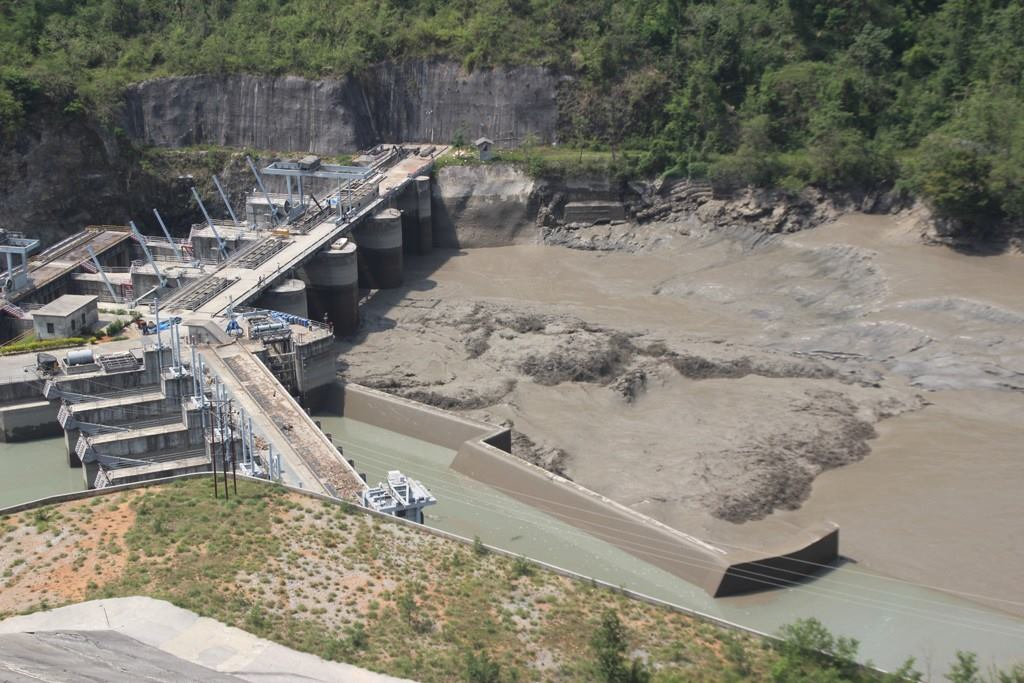
[[452, 468], [621, 550], [699, 586], [715, 597], [775, 588], [814, 573], [839, 553], [839, 528], [801, 529], [754, 553], [717, 547], [513, 457], [511, 432], [355, 384], [337, 387], [329, 410], [457, 452]]

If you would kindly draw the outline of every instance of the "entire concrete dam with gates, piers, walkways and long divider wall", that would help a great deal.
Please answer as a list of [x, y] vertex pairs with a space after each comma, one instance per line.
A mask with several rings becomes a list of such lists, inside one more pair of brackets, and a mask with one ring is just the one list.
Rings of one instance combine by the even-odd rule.
[[[99, 253], [61, 251], [70, 260], [45, 281], [30, 265], [33, 276], [7, 300], [8, 316], [31, 314], [22, 304], [55, 289], [89, 287], [106, 302], [145, 307], [155, 334], [141, 348], [122, 342], [88, 362], [57, 360], [5, 386], [6, 395], [32, 398], [23, 401], [31, 402], [26, 415], [52, 412], [90, 487], [213, 470], [225, 476], [226, 495], [227, 471], [241, 468], [422, 519], [429, 492], [400, 473], [368, 485], [358, 463], [309, 417], [308, 409], [329, 405], [452, 449], [462, 475], [714, 596], [792, 583], [836, 559], [834, 525], [800, 529], [765, 552], [719, 547], [514, 458], [508, 428], [337, 386], [334, 341], [358, 331], [360, 290], [399, 288], [406, 255], [433, 248], [429, 174], [443, 152], [380, 145], [355, 166], [306, 157], [253, 167], [258, 186], [245, 212], [225, 199], [230, 219], [214, 219], [200, 202], [206, 221], [187, 239], [144, 237], [134, 225], [98, 229], [93, 241], [111, 236]], [[95, 280], [76, 278], [85, 274]]]

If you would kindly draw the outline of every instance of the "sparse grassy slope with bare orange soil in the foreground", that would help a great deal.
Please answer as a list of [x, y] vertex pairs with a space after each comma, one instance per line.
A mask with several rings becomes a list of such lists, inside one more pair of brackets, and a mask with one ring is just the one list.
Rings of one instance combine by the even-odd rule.
[[611, 591], [272, 485], [209, 481], [115, 494], [3, 520], [0, 613], [148, 595], [331, 659], [463, 680], [593, 680], [589, 642], [616, 610], [655, 681], [767, 676], [773, 652]]

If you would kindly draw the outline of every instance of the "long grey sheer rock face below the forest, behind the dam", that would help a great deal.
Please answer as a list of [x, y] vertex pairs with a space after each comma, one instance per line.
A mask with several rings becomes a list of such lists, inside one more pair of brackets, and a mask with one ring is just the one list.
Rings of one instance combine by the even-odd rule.
[[189, 76], [145, 81], [125, 95], [122, 127], [163, 146], [223, 144], [337, 154], [378, 142], [447, 143], [532, 134], [557, 139], [549, 70], [466, 72], [451, 62], [381, 65], [360, 78]]

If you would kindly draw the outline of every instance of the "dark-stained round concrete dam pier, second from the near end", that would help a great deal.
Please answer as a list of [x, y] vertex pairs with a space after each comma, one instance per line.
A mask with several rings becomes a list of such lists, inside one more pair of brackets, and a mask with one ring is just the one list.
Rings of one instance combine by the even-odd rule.
[[[358, 250], [361, 251], [361, 250]], [[398, 248], [399, 253], [401, 247]], [[309, 278], [311, 317], [334, 325], [335, 337], [348, 337], [359, 327], [359, 268], [355, 244], [346, 239], [316, 254], [305, 265]]]

